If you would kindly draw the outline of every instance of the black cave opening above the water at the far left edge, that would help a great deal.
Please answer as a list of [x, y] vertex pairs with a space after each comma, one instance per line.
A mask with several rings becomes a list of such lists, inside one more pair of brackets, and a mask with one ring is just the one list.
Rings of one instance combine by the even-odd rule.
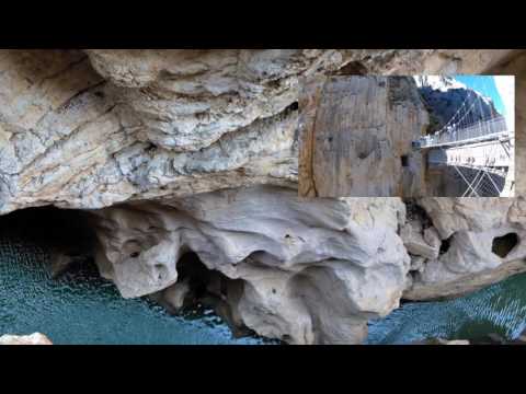
[[0, 239], [32, 244], [49, 256], [48, 269], [57, 277], [79, 264], [91, 263], [96, 235], [92, 215], [52, 206], [27, 208], [0, 217]]

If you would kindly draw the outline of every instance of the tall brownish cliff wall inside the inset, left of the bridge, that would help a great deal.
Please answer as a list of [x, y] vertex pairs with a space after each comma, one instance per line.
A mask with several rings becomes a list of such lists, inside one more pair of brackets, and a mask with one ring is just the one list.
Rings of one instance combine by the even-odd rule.
[[[392, 84], [392, 86], [391, 86]], [[300, 95], [299, 195], [422, 195], [422, 104], [408, 79], [330, 77], [306, 82]], [[422, 108], [420, 106], [422, 106]]]

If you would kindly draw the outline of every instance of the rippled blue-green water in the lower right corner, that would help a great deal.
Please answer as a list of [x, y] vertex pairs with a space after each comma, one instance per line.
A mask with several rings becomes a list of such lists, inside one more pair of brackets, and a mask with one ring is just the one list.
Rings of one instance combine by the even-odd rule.
[[515, 339], [526, 328], [526, 274], [469, 296], [407, 303], [369, 324], [368, 344], [409, 344], [427, 338], [481, 339], [494, 333]]

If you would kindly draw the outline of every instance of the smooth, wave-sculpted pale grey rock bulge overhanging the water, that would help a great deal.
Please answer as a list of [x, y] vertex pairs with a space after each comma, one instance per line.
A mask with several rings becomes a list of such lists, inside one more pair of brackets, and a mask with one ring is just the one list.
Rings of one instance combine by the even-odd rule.
[[410, 264], [397, 235], [399, 199], [302, 201], [260, 186], [98, 215], [102, 271], [124, 297], [170, 288], [192, 251], [208, 269], [243, 280], [233, 306], [249, 328], [294, 344], [348, 341], [398, 305]]

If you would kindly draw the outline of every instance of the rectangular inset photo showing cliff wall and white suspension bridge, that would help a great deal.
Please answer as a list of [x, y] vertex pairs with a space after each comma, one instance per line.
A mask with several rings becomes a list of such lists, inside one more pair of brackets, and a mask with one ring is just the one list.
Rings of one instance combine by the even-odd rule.
[[512, 76], [304, 79], [301, 197], [514, 197]]

